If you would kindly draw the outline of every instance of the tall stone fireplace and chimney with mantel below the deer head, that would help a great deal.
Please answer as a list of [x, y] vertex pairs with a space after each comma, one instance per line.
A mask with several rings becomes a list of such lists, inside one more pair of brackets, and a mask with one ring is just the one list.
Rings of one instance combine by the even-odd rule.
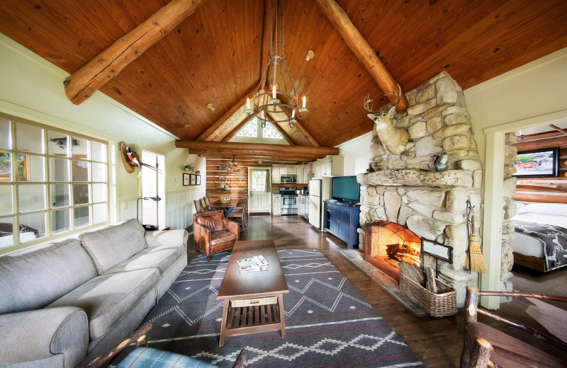
[[[483, 171], [471, 118], [461, 88], [444, 71], [406, 96], [408, 110], [395, 115], [392, 122], [408, 131], [414, 146], [393, 154], [374, 129], [369, 172], [357, 177], [361, 184], [360, 244], [374, 231], [369, 232], [366, 224], [385, 220], [394, 224], [390, 226], [404, 226], [416, 237], [452, 246], [453, 264], [439, 263], [439, 278], [457, 290], [457, 304], [463, 306], [466, 286], [476, 286], [478, 280], [476, 273], [465, 269], [467, 200], [475, 206], [476, 234], [482, 234], [478, 220]], [[440, 156], [447, 159], [444, 167], [436, 164]], [[422, 259], [425, 265], [434, 265], [429, 255]]]

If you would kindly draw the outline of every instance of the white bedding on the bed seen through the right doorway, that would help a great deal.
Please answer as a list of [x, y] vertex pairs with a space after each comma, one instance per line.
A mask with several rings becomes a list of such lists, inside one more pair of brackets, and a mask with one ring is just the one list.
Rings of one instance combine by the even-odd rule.
[[[518, 207], [513, 221], [549, 224], [567, 229], [567, 205], [561, 203], [532, 203]], [[514, 233], [514, 251], [523, 255], [544, 258], [544, 242], [533, 236]]]

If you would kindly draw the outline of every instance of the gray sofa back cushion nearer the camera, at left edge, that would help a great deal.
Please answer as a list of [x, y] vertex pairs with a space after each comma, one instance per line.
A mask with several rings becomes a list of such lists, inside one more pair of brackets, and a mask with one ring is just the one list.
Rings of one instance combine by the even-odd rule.
[[43, 308], [96, 276], [77, 239], [0, 257], [0, 314]]

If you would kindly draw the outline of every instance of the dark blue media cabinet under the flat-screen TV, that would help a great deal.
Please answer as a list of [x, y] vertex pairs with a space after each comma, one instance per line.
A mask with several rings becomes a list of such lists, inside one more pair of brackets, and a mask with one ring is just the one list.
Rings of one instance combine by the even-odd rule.
[[325, 201], [325, 219], [323, 231], [329, 231], [345, 243], [347, 248], [354, 248], [359, 243], [360, 205], [347, 205], [340, 202]]

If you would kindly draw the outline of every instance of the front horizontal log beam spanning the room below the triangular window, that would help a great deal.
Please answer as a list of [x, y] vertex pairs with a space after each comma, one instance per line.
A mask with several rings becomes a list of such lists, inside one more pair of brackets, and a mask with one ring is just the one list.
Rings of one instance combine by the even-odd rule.
[[175, 141], [175, 146], [177, 148], [220, 149], [223, 151], [231, 151], [231, 150], [241, 151], [243, 149], [249, 150], [253, 147], [253, 149], [257, 151], [269, 151], [269, 152], [294, 152], [297, 154], [324, 154], [324, 155], [339, 154], [339, 149], [335, 147], [286, 146], [283, 144], [264, 144], [264, 143], [254, 143], [253, 145], [251, 145], [248, 143], [238, 143], [238, 142], [203, 142], [203, 141], [189, 141], [189, 140], [177, 139]]

